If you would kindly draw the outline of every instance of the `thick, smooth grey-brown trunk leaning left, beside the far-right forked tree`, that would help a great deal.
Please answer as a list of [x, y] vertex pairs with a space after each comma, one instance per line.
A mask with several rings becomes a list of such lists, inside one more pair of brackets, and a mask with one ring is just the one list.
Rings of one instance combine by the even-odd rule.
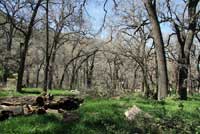
[[152, 36], [155, 42], [157, 62], [158, 62], [158, 100], [165, 98], [168, 94], [167, 64], [164, 51], [164, 42], [156, 13], [156, 2], [143, 0], [149, 19], [152, 24]]

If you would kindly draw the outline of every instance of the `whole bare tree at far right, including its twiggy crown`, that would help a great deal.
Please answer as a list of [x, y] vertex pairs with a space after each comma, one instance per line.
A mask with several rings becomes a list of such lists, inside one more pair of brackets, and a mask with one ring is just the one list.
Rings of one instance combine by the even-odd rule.
[[[174, 33], [178, 40], [178, 93], [181, 100], [187, 99], [187, 79], [190, 66], [190, 53], [193, 44], [193, 39], [197, 31], [197, 20], [199, 17], [199, 11], [197, 12], [198, 0], [185, 1], [185, 8], [182, 15], [178, 15], [172, 8], [172, 3], [168, 2], [169, 19], [174, 27]], [[188, 18], [185, 18], [185, 12], [187, 10]], [[187, 21], [186, 21], [187, 19]], [[188, 23], [186, 23], [188, 22]]]

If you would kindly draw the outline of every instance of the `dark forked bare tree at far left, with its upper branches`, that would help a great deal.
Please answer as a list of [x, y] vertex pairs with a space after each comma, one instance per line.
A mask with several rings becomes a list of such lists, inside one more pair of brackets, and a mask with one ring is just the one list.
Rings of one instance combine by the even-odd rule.
[[[38, 9], [41, 5], [43, 0], [38, 0], [37, 2], [22, 2], [22, 1], [1, 1], [1, 4], [3, 5], [3, 11], [5, 11], [9, 23], [11, 23], [11, 25], [17, 29], [19, 32], [21, 32], [24, 36], [24, 41], [22, 45], [22, 49], [21, 49], [21, 54], [20, 54], [20, 62], [19, 62], [19, 69], [18, 69], [18, 80], [17, 80], [17, 91], [21, 91], [22, 90], [22, 83], [23, 83], [23, 74], [24, 74], [24, 67], [25, 67], [25, 61], [26, 61], [26, 54], [28, 51], [28, 46], [29, 46], [29, 41], [31, 39], [31, 35], [32, 35], [32, 31], [33, 31], [33, 26], [35, 24], [35, 18], [38, 12]], [[15, 10], [15, 14], [14, 16], [10, 14], [10, 10], [9, 10], [9, 4], [12, 4], [11, 7], [13, 7], [13, 5], [16, 5], [14, 7], [16, 7], [17, 10]], [[20, 16], [20, 13], [22, 10], [26, 11], [28, 10], [27, 8], [30, 8], [30, 10], [32, 11], [31, 17], [27, 20], [27, 16], [23, 16], [23, 14], [21, 14], [21, 17], [17, 18], [18, 16]], [[29, 10], [29, 11], [30, 11]], [[27, 24], [27, 22], [29, 22]]]

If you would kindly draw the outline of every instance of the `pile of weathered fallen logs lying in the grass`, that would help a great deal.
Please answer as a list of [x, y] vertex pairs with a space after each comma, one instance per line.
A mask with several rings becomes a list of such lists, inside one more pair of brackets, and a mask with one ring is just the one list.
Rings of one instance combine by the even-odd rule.
[[[17, 101], [12, 100], [3, 101], [0, 103], [0, 121], [6, 120], [13, 116], [19, 115], [32, 115], [32, 114], [45, 114], [48, 111], [57, 110], [57, 113], [63, 114], [63, 118], [66, 122], [77, 120], [79, 117], [73, 112], [66, 112], [76, 110], [83, 103], [84, 99], [78, 97], [63, 97], [57, 101], [53, 100], [52, 95], [38, 96], [30, 101], [26, 98], [27, 103], [24, 103], [23, 98], [18, 98]], [[21, 101], [19, 101], [21, 100]], [[23, 101], [23, 103], [22, 103]], [[4, 105], [2, 105], [4, 104]]]

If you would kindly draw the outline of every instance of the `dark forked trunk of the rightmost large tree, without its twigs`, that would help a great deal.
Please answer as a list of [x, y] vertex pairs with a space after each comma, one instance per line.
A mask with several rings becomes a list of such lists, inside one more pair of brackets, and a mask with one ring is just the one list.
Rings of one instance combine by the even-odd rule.
[[188, 31], [183, 39], [181, 36], [181, 30], [179, 26], [174, 23], [177, 38], [179, 41], [179, 82], [178, 82], [178, 93], [181, 100], [187, 100], [187, 79], [188, 79], [188, 69], [190, 64], [190, 50], [193, 44], [193, 39], [196, 31], [197, 17], [196, 8], [199, 0], [189, 0], [188, 1]]

